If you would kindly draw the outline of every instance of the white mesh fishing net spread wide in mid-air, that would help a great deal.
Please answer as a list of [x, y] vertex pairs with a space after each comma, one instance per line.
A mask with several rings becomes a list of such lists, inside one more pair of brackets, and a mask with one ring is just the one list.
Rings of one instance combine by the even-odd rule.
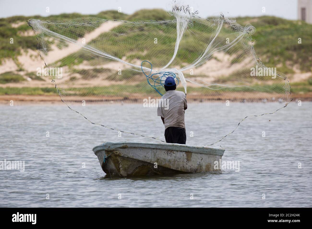
[[[163, 82], [168, 76], [163, 73], [168, 72], [176, 77], [177, 90], [187, 94], [187, 131], [198, 126], [188, 122], [188, 116], [208, 127], [220, 115], [227, 120], [220, 130], [197, 128], [207, 136], [203, 144], [221, 140], [246, 116], [272, 113], [290, 102], [285, 75], [267, 68], [256, 56], [253, 26], [241, 26], [222, 14], [203, 19], [185, 6], [173, 6], [170, 13], [173, 19], [162, 21], [90, 17], [30, 19], [28, 24], [37, 35], [38, 50], [62, 101], [90, 122], [111, 129], [141, 136], [154, 136], [155, 129], [162, 129], [162, 124], [155, 124], [156, 119], [161, 121], [153, 99], [165, 93], [157, 80]], [[144, 99], [152, 101], [145, 110], [141, 109]], [[248, 102], [272, 103], [259, 114], [244, 105]], [[112, 104], [116, 106], [111, 108]], [[134, 104], [129, 109], [142, 111], [128, 120], [123, 104]], [[147, 109], [153, 110], [154, 117], [142, 123]], [[119, 111], [124, 115], [117, 117]]]

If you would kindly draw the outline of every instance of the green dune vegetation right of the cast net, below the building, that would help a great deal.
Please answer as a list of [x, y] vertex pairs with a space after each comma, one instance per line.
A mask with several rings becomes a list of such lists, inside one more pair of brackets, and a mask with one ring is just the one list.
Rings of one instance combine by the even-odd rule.
[[[290, 21], [278, 17], [240, 17], [236, 21], [245, 26], [256, 27], [252, 36], [256, 54], [267, 67], [276, 67], [287, 74], [292, 73], [291, 65], [300, 64], [303, 72], [311, 71], [312, 62], [312, 25], [304, 21]], [[298, 39], [301, 38], [301, 44]]]

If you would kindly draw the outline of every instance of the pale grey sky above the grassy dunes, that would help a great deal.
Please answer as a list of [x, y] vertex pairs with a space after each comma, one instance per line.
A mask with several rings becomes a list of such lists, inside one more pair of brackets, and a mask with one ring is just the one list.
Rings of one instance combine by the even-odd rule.
[[[16, 15], [49, 16], [77, 12], [97, 14], [105, 10], [118, 10], [132, 14], [139, 9], [169, 9], [171, 0], [0, 0], [0, 17]], [[290, 20], [297, 19], [297, 0], [183, 0], [179, 1], [198, 10], [200, 17], [227, 17], [273, 15]], [[50, 12], [46, 12], [49, 7]], [[119, 8], [121, 7], [121, 8]], [[262, 12], [265, 7], [265, 12]]]

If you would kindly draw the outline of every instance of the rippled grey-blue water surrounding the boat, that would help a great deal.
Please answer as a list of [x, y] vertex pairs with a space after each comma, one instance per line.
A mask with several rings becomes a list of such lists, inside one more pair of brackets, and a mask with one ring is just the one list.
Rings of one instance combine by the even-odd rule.
[[[96, 112], [97, 106], [89, 109]], [[116, 106], [123, 112], [113, 113]], [[264, 105], [244, 106], [260, 114]], [[142, 112], [137, 104], [108, 109], [112, 116], [107, 123], [163, 139], [154, 111]], [[202, 112], [207, 122], [200, 122], [190, 110], [192, 105], [186, 112], [187, 144], [192, 145], [213, 143], [219, 137], [214, 132], [222, 136], [244, 118], [214, 114], [209, 122], [212, 114]], [[272, 115], [249, 117], [215, 144], [226, 149], [222, 160], [239, 162], [239, 170], [111, 179], [102, 171], [94, 146], [155, 140], [119, 137], [64, 104], [1, 105], [0, 161], [25, 161], [25, 170], [0, 170], [0, 207], [312, 207], [311, 111], [310, 102], [291, 102]], [[142, 119], [133, 120], [138, 114]], [[209, 131], [202, 134], [202, 129]]]

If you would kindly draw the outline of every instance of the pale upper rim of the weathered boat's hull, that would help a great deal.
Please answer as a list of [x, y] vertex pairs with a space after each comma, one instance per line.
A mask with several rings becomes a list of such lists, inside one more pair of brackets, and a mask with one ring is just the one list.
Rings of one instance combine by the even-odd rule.
[[175, 143], [158, 143], [144, 141], [106, 141], [101, 145], [94, 146], [92, 150], [94, 153], [96, 153], [99, 150], [113, 151], [122, 148], [149, 148], [149, 149], [173, 150], [173, 151], [200, 153], [207, 155], [219, 155], [219, 156], [223, 156], [225, 151], [225, 149], [220, 149], [212, 146], [193, 146]]

